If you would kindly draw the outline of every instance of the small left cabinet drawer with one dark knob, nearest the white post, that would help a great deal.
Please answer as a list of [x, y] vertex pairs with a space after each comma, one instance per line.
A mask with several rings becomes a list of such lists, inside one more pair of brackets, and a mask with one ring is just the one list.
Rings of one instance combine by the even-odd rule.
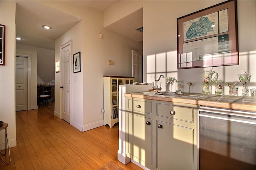
[[128, 100], [128, 110], [152, 114], [152, 103], [147, 101]]

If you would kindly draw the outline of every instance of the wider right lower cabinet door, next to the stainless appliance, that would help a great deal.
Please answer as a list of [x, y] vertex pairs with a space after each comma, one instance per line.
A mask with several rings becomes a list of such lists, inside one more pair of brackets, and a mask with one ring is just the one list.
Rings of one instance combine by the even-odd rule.
[[157, 169], [193, 169], [193, 131], [191, 128], [157, 121]]

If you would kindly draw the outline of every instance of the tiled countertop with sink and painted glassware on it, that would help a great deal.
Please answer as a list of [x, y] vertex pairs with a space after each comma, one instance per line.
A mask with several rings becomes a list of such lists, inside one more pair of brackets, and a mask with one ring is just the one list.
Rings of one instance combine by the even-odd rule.
[[126, 93], [124, 96], [256, 112], [256, 97], [248, 96], [203, 95], [200, 93], [183, 93], [183, 95], [158, 95], [151, 91]]

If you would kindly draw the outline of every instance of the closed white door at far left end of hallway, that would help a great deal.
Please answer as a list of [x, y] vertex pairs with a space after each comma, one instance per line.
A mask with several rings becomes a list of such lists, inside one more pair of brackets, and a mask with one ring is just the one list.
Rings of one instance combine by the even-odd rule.
[[15, 67], [16, 111], [28, 110], [28, 58], [16, 57]]

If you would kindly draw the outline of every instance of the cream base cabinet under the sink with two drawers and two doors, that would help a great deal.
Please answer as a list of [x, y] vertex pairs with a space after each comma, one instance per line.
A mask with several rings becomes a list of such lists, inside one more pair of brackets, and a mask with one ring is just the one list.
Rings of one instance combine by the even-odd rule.
[[126, 97], [126, 154], [157, 170], [197, 170], [197, 105]]

